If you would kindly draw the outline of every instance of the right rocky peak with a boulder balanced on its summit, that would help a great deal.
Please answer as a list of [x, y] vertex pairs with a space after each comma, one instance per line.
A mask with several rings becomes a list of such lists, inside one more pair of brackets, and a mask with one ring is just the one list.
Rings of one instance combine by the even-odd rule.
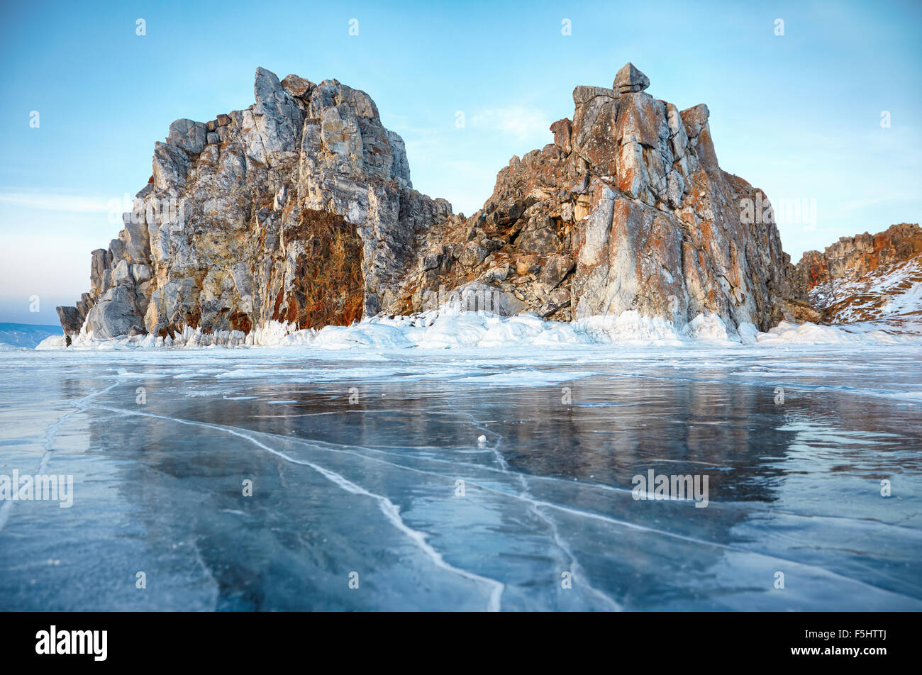
[[713, 313], [767, 329], [809, 311], [777, 229], [753, 217], [767, 198], [719, 167], [707, 107], [679, 111], [648, 86], [628, 64], [611, 89], [574, 89], [553, 143], [514, 157], [478, 213], [426, 232], [402, 302], [386, 309], [479, 284], [493, 289], [481, 308], [514, 298], [559, 320], [636, 310], [685, 326]]

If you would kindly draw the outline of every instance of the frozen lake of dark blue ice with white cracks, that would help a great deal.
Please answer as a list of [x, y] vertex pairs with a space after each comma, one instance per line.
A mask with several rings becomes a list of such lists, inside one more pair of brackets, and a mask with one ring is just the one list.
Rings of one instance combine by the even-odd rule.
[[922, 610], [919, 347], [0, 356], [2, 610]]

